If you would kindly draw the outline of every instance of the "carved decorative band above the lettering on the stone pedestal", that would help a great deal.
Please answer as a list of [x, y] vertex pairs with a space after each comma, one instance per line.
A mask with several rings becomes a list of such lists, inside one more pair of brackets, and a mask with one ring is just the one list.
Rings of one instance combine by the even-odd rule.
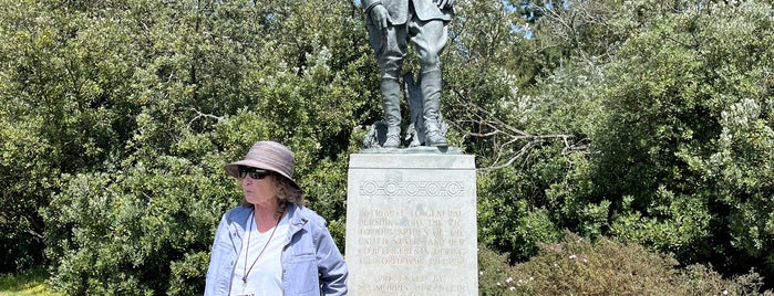
[[460, 197], [465, 192], [461, 182], [440, 181], [364, 181], [361, 197]]

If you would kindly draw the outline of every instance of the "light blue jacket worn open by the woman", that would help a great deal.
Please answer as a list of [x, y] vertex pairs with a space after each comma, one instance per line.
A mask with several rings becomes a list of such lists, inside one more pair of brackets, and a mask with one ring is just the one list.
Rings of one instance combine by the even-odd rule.
[[[228, 295], [231, 274], [252, 208], [226, 212], [215, 233], [204, 295]], [[347, 263], [326, 221], [313, 211], [288, 203], [290, 221], [282, 247], [282, 290], [286, 296], [347, 295]]]

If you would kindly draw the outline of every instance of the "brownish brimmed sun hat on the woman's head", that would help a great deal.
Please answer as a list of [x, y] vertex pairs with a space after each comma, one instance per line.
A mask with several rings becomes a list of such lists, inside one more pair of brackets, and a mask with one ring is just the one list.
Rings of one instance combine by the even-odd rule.
[[277, 172], [287, 178], [293, 187], [301, 189], [293, 180], [293, 168], [296, 167], [293, 154], [288, 147], [279, 142], [258, 141], [252, 145], [245, 159], [228, 163], [224, 168], [228, 175], [239, 178], [239, 166]]

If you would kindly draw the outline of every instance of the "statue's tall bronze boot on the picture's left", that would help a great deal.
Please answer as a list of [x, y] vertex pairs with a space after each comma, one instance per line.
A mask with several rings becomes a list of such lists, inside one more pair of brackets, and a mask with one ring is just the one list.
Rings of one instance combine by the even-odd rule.
[[382, 93], [384, 124], [388, 126], [382, 147], [398, 148], [401, 146], [401, 85], [398, 78], [382, 77], [379, 91]]

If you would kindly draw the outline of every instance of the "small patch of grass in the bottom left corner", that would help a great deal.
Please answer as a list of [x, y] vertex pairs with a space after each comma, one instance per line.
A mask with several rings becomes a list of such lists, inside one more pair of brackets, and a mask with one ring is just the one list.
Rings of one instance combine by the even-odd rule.
[[49, 273], [38, 267], [20, 274], [0, 274], [0, 296], [60, 296], [45, 285]]

